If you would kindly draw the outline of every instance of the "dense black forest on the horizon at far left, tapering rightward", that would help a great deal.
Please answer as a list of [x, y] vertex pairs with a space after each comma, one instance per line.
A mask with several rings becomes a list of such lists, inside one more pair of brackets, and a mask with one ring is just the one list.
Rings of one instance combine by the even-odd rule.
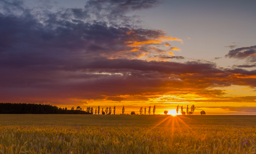
[[25, 104], [25, 103], [0, 103], [0, 114], [93, 114], [91, 108], [77, 106], [71, 110], [52, 105]]

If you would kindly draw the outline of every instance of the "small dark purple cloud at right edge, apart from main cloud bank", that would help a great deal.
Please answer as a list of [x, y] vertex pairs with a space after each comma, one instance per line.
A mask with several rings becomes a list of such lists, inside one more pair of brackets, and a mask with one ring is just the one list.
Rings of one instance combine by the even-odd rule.
[[225, 57], [245, 59], [248, 58], [250, 61], [255, 61], [256, 57], [256, 46], [242, 47], [234, 50], [230, 50]]

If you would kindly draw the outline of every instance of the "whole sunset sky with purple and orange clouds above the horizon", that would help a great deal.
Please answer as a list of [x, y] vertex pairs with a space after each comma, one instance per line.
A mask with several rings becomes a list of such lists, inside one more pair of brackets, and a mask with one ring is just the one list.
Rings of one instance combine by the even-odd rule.
[[256, 115], [254, 0], [0, 0], [0, 102]]

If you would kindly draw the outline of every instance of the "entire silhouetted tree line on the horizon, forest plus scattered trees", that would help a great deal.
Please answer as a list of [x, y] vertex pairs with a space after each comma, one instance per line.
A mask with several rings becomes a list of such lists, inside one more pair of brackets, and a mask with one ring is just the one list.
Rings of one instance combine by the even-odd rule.
[[[191, 106], [191, 110], [189, 111], [189, 108], [187, 106], [187, 114], [188, 115], [193, 115], [195, 106]], [[68, 110], [66, 107], [61, 108], [57, 106], [52, 106], [49, 104], [25, 104], [25, 103], [0, 103], [0, 114], [100, 114], [102, 115], [111, 115], [112, 113], [112, 108], [111, 106], [104, 108], [98, 108], [96, 107], [93, 109], [93, 107], [86, 107], [81, 108], [80, 106], [72, 107], [71, 110]], [[149, 115], [151, 114], [151, 106], [149, 106], [148, 110], [145, 107], [143, 110], [143, 107], [140, 107], [139, 113], [140, 115], [143, 114], [146, 115], [148, 113]], [[153, 106], [153, 115], [155, 115], [156, 112], [156, 105]], [[179, 105], [177, 106], [176, 109], [177, 115], [179, 113]], [[164, 114], [167, 115], [168, 111], [164, 111]], [[200, 112], [201, 115], [205, 115], [205, 111]], [[116, 106], [113, 107], [113, 114], [116, 114]], [[125, 115], [125, 106], [122, 108], [122, 113], [120, 115]], [[135, 115], [136, 113], [134, 111], [131, 112], [131, 115]], [[183, 106], [181, 106], [181, 114], [185, 115], [185, 111], [183, 111]]]

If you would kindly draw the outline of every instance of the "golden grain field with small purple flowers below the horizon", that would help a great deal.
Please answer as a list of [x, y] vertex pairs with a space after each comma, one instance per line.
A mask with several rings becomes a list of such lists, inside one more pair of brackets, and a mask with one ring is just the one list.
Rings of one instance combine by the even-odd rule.
[[243, 154], [256, 116], [0, 115], [0, 153]]

